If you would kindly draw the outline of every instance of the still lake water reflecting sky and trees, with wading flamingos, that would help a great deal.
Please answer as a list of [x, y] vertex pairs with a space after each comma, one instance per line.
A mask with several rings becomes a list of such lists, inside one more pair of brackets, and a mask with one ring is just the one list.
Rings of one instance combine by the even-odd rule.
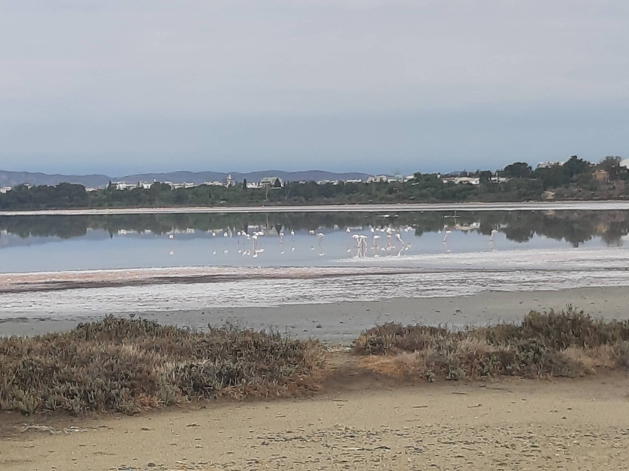
[[386, 264], [422, 254], [621, 247], [627, 234], [629, 212], [618, 210], [11, 216], [0, 217], [0, 271]]

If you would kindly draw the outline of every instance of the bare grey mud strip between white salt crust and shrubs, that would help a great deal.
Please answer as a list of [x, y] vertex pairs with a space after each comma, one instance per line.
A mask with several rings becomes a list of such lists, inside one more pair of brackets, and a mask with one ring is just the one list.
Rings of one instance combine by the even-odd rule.
[[[318, 337], [330, 342], [350, 343], [365, 328], [377, 323], [401, 322], [485, 325], [499, 321], [517, 322], [530, 310], [560, 310], [567, 304], [595, 317], [629, 318], [626, 300], [629, 288], [575, 288], [560, 291], [486, 291], [478, 295], [442, 298], [392, 298], [382, 301], [328, 304], [208, 308], [206, 310], [143, 311], [141, 317], [160, 323], [203, 328], [225, 322], [252, 328], [274, 327], [296, 337]], [[0, 335], [35, 335], [69, 330], [79, 322], [101, 318], [8, 318], [0, 322]]]

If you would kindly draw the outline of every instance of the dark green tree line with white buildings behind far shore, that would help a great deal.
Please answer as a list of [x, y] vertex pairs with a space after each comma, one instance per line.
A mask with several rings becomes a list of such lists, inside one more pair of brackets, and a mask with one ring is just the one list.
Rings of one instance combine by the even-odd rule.
[[443, 175], [420, 172], [404, 183], [340, 181], [338, 185], [317, 185], [314, 181], [289, 181], [282, 186], [278, 180], [267, 188], [247, 188], [246, 181], [232, 187], [199, 185], [175, 190], [159, 182], [150, 188], [131, 190], [108, 185], [91, 192], [71, 183], [18, 185], [6, 194], [0, 193], [0, 210], [618, 199], [629, 197], [629, 185], [625, 185], [629, 172], [620, 161], [620, 157], [608, 156], [593, 164], [571, 156], [564, 163], [535, 170], [528, 163], [515, 162], [496, 172], [502, 178], [499, 181], [491, 179], [494, 173], [489, 170], [460, 173], [479, 178], [479, 185], [446, 184]]

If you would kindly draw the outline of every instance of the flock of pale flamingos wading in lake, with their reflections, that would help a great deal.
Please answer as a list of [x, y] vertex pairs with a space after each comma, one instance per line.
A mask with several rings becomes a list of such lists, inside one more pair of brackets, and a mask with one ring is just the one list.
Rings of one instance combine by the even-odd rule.
[[[399, 229], [392, 229], [392, 227], [389, 226], [370, 226], [369, 227], [369, 231], [371, 232], [371, 241], [370, 244], [367, 243], [367, 241], [369, 241], [369, 236], [365, 236], [364, 234], [360, 234], [359, 232], [363, 232], [364, 228], [363, 227], [347, 227], [347, 229], [345, 230], [345, 232], [347, 232], [347, 234], [352, 234], [351, 239], [352, 239], [352, 244], [353, 247], [350, 246], [350, 244], [348, 244], [347, 247], [347, 253], [351, 253], [352, 251], [355, 251], [355, 256], [358, 258], [364, 258], [369, 256], [368, 254], [372, 254], [373, 257], [381, 257], [382, 256], [382, 252], [384, 252], [385, 254], [389, 254], [392, 251], [397, 251], [395, 253], [396, 256], [400, 256], [402, 254], [403, 251], [408, 251], [412, 245], [411, 244], [407, 244], [406, 242], [404, 242], [404, 240], [402, 239], [402, 233], [403, 232], [409, 232], [412, 231], [413, 227], [411, 226], [406, 226], [406, 227], [400, 227]], [[353, 232], [356, 231], [356, 232]], [[208, 231], [209, 232], [209, 231]], [[316, 232], [315, 230], [311, 229], [308, 231], [309, 234], [311, 236], [315, 236], [318, 243], [316, 244], [318, 246], [318, 255], [319, 256], [324, 256], [325, 252], [323, 251], [323, 238], [325, 237], [325, 234], [323, 234], [323, 232]], [[353, 233], [352, 233], [353, 232]], [[442, 232], [441, 230], [438, 232]], [[212, 237], [216, 237], [216, 234], [220, 235], [220, 232], [217, 231], [211, 231]], [[290, 232], [291, 236], [295, 235], [295, 231], [291, 229]], [[452, 234], [452, 230], [448, 229], [447, 225], [443, 226], [443, 247], [444, 247], [444, 251], [449, 253], [451, 252], [450, 247], [448, 245], [448, 236], [450, 236], [450, 234]], [[491, 250], [495, 251], [496, 247], [494, 245], [494, 236], [496, 236], [496, 234], [498, 234], [498, 230], [496, 229], [492, 229], [491, 230], [491, 235], [489, 236], [489, 246], [491, 247]], [[228, 229], [226, 231], [223, 232], [223, 237], [238, 237], [238, 254], [240, 254], [243, 257], [252, 257], [252, 258], [257, 258], [259, 256], [259, 254], [264, 253], [264, 248], [259, 247], [258, 246], [258, 241], [260, 237], [264, 237], [266, 235], [266, 232], [264, 229], [260, 229], [260, 230], [254, 230], [252, 232], [252, 234], [249, 234], [247, 231], [245, 230], [237, 230], [237, 231], [233, 231], [231, 229]], [[282, 255], [284, 254], [284, 232], [281, 231], [278, 233], [279, 236], [279, 253]], [[386, 237], [386, 244], [382, 244], [381, 245], [381, 239], [383, 237]], [[170, 234], [169, 235], [170, 239], [174, 239], [174, 235]], [[243, 241], [241, 244], [241, 240]], [[291, 237], [291, 252], [295, 251], [295, 246], [294, 246], [294, 239], [292, 239]], [[394, 246], [392, 243], [396, 243], [399, 242], [399, 246]], [[247, 248], [247, 245], [251, 244], [250, 248]], [[312, 245], [310, 247], [311, 251], [315, 251], [316, 246]], [[229, 249], [225, 249], [223, 250], [223, 254], [228, 254], [229, 253]], [[213, 255], [216, 255], [216, 250], [214, 250], [212, 252]], [[170, 255], [174, 255], [174, 251], [170, 251]]]

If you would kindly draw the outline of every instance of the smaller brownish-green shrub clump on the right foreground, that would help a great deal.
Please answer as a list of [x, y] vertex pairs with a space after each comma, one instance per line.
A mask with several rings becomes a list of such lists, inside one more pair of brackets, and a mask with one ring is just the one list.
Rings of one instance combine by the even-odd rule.
[[[486, 376], [575, 377], [597, 367], [629, 366], [629, 322], [575, 311], [531, 311], [520, 325], [452, 331], [387, 323], [354, 341], [368, 367], [432, 381]], [[373, 356], [381, 355], [381, 356]]]

